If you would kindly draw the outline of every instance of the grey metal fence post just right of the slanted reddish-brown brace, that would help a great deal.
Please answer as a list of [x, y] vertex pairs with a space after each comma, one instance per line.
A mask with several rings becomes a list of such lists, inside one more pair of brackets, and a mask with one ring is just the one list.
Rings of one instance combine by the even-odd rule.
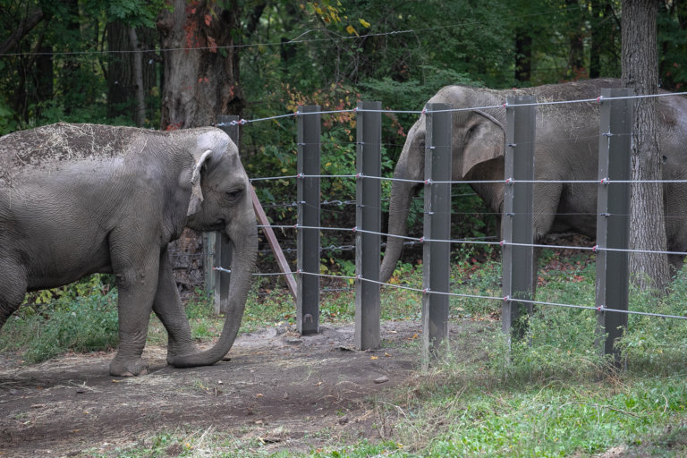
[[319, 111], [319, 106], [298, 108], [298, 225], [306, 226], [297, 236], [296, 319], [301, 335], [319, 331], [319, 178], [312, 176], [320, 174]]

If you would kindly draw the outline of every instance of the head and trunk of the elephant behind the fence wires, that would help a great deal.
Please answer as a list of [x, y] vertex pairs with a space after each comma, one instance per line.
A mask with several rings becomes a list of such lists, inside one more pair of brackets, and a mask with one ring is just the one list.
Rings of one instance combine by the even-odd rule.
[[[488, 89], [480, 91], [481, 97], [476, 98], [475, 89], [462, 86], [448, 86], [441, 89], [428, 103], [446, 103], [453, 108], [470, 106], [491, 106], [496, 103], [496, 96]], [[475, 109], [456, 111], [453, 113], [453, 180], [503, 180], [503, 157], [505, 131], [503, 120], [505, 110]], [[394, 169], [394, 179], [422, 181], [425, 179], [425, 137], [427, 115], [421, 114], [420, 119], [411, 127], [403, 145], [401, 157]], [[479, 178], [478, 178], [479, 177]], [[472, 185], [478, 188], [479, 184]], [[492, 186], [493, 187], [493, 186]], [[380, 280], [387, 282], [394, 273], [396, 262], [401, 256], [403, 238], [407, 234], [408, 212], [411, 200], [419, 190], [420, 184], [415, 182], [394, 181], [389, 201], [389, 237], [386, 251], [380, 269]], [[481, 190], [485, 194], [487, 204], [492, 208], [499, 208], [503, 194], [489, 190]], [[486, 191], [486, 192], [484, 192]], [[500, 197], [499, 197], [500, 196]], [[500, 200], [499, 200], [500, 199]]]

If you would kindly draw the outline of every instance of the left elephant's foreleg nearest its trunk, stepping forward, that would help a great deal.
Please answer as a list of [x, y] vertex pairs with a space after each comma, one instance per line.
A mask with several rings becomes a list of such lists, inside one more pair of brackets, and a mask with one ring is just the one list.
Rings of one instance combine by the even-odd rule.
[[153, 301], [153, 311], [165, 326], [168, 335], [167, 361], [174, 356], [197, 352], [191, 340], [191, 327], [183, 309], [179, 291], [176, 289], [172, 267], [169, 264], [167, 249], [160, 256], [160, 271], [157, 278], [157, 293]]

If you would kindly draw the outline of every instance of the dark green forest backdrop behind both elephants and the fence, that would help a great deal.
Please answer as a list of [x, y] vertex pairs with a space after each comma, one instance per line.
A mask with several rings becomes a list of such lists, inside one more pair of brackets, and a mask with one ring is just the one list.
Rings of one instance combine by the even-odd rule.
[[[680, 91], [687, 3], [658, 3], [660, 84]], [[171, 130], [211, 125], [220, 114], [250, 120], [360, 99], [419, 110], [447, 84], [620, 77], [620, 10], [619, 0], [0, 0], [0, 134], [58, 121]], [[384, 174], [414, 120], [385, 114]], [[354, 115], [323, 121], [323, 173], [351, 174]], [[250, 176], [294, 174], [295, 138], [288, 118], [243, 126]], [[323, 181], [323, 199], [345, 202], [354, 187]], [[295, 218], [293, 182], [257, 191], [273, 220]], [[454, 236], [489, 233], [492, 216], [471, 190], [454, 194], [463, 198], [454, 213], [467, 216]], [[353, 213], [334, 208], [323, 225], [352, 226]], [[337, 237], [323, 245], [344, 247]], [[330, 261], [352, 268], [342, 250]]]

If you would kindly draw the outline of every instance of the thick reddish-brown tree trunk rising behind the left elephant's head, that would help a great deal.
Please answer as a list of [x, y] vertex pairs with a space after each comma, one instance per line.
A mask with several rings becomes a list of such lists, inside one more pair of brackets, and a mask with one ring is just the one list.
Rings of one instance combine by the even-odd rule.
[[208, 0], [173, 0], [174, 11], [157, 20], [165, 62], [162, 129], [215, 123], [218, 114], [241, 114], [245, 100], [238, 86], [241, 30], [236, 2], [223, 9]]

